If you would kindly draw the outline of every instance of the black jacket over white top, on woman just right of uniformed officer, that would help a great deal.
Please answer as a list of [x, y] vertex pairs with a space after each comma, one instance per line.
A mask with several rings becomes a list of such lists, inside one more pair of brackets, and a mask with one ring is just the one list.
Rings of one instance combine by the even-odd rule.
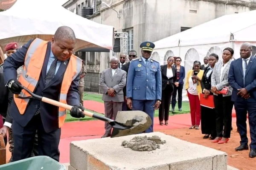
[[174, 66], [172, 66], [172, 74], [173, 77], [168, 79], [166, 77], [167, 73], [167, 64], [166, 65], [161, 65], [161, 72], [162, 72], [162, 91], [166, 88], [167, 82], [172, 85], [172, 89], [174, 89], [174, 82], [176, 82], [177, 79], [177, 70]]

